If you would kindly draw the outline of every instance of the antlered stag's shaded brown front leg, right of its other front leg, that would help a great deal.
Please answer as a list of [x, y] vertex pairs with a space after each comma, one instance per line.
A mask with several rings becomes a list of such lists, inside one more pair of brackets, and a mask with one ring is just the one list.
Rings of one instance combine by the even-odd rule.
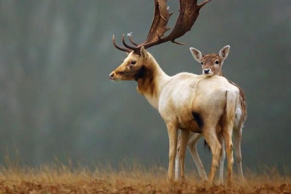
[[186, 147], [189, 139], [189, 130], [183, 129], [180, 133], [180, 169], [181, 169], [181, 179], [185, 179], [185, 155], [186, 155]]

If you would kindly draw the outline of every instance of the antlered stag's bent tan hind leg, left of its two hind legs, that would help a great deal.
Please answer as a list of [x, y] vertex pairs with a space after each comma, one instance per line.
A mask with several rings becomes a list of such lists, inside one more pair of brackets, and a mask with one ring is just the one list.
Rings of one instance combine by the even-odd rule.
[[211, 168], [210, 168], [210, 173], [208, 177], [208, 183], [212, 185], [214, 183], [214, 178], [217, 172], [219, 159], [221, 157], [222, 146], [220, 145], [218, 141], [215, 128], [208, 128], [208, 129], [204, 128], [203, 135], [207, 144], [210, 146], [210, 150], [212, 153], [212, 162], [211, 162]]

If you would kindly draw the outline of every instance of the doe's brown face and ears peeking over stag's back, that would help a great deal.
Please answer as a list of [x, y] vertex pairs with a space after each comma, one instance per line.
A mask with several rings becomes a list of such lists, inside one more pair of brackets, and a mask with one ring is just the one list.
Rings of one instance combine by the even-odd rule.
[[221, 67], [228, 56], [229, 48], [230, 46], [227, 45], [219, 51], [219, 54], [210, 53], [207, 55], [194, 48], [190, 48], [190, 51], [194, 59], [201, 64], [203, 74], [223, 76]]

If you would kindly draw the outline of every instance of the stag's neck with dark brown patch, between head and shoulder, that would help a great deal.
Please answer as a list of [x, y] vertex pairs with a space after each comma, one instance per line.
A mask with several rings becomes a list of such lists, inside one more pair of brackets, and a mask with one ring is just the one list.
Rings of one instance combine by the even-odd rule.
[[137, 91], [145, 96], [155, 109], [158, 109], [161, 88], [168, 77], [153, 57], [147, 60], [138, 73]]

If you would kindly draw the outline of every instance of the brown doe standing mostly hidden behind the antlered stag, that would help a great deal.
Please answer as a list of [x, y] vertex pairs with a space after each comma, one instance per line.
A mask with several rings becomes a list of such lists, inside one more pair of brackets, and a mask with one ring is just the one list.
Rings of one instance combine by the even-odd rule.
[[[224, 76], [222, 72], [222, 65], [224, 64], [224, 61], [226, 60], [228, 53], [229, 53], [230, 46], [227, 45], [224, 48], [222, 48], [218, 54], [216, 53], [210, 53], [207, 55], [204, 55], [200, 50], [195, 49], [195, 48], [190, 48], [190, 51], [194, 57], [194, 59], [201, 64], [202, 67], [202, 74], [206, 76]], [[235, 120], [234, 120], [234, 126], [233, 126], [233, 137], [234, 137], [234, 153], [236, 156], [236, 162], [237, 162], [237, 168], [238, 168], [238, 173], [239, 177], [243, 179], [243, 173], [242, 173], [242, 152], [241, 152], [241, 140], [242, 140], [242, 127], [243, 123], [246, 119], [246, 100], [245, 100], [245, 95], [240, 86], [235, 84], [232, 81], [229, 81], [229, 83], [233, 84], [236, 86], [239, 91], [240, 91], [240, 97], [239, 97], [239, 106], [236, 110], [235, 113]], [[203, 164], [199, 158], [197, 149], [196, 149], [196, 144], [197, 141], [202, 137], [201, 134], [199, 133], [193, 133], [190, 132], [189, 134], [189, 141], [188, 141], [188, 147], [190, 150], [190, 153], [192, 155], [192, 158], [196, 164], [198, 174], [200, 178], [203, 180], [207, 179], [206, 172], [204, 170]], [[179, 155], [179, 140], [180, 138], [178, 137], [178, 147], [177, 147], [177, 155]], [[224, 141], [223, 139], [220, 139], [221, 145], [224, 147]], [[224, 161], [225, 161], [225, 150], [223, 149], [222, 152], [222, 157], [220, 159], [220, 164], [219, 164], [219, 183], [223, 183], [223, 174], [224, 174]], [[179, 179], [179, 157], [176, 157], [176, 167], [175, 167], [175, 179]]]

